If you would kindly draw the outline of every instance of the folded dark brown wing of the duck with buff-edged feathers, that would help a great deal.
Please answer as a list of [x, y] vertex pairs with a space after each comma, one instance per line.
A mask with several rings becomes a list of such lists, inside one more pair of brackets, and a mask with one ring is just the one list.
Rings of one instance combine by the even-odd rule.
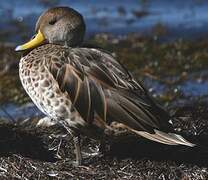
[[47, 58], [60, 89], [88, 123], [95, 115], [110, 124], [136, 130], [170, 131], [169, 115], [149, 97], [145, 88], [111, 55], [97, 49], [72, 48]]

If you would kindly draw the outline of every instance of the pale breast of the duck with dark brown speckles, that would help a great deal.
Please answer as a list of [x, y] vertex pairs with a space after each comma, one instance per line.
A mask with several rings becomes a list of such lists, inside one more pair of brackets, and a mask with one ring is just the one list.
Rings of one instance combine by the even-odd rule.
[[69, 118], [71, 102], [59, 89], [43, 58], [30, 54], [21, 58], [19, 76], [24, 89], [44, 114], [53, 119]]

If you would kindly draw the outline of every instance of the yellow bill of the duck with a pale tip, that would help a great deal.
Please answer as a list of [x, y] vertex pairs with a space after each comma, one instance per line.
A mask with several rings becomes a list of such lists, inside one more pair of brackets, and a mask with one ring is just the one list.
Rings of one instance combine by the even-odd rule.
[[45, 37], [39, 30], [38, 34], [35, 36], [34, 39], [30, 40], [29, 42], [27, 42], [23, 45], [17, 46], [15, 48], [15, 51], [22, 51], [22, 50], [37, 47], [38, 45], [42, 44], [44, 40], [45, 40]]

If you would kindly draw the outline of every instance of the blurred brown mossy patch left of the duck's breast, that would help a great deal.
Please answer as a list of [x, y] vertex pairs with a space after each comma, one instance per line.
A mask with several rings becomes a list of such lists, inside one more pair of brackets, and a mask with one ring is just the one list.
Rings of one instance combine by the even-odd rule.
[[0, 46], [0, 102], [25, 103], [28, 101], [18, 76], [20, 55], [13, 46]]

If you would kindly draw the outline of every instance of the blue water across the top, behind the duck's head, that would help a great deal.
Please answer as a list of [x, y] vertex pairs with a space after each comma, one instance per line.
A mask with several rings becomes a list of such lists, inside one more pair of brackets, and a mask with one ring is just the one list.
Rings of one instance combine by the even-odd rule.
[[[83, 14], [88, 35], [151, 33], [158, 23], [166, 26], [169, 36], [174, 37], [198, 37], [208, 30], [206, 0], [4, 0], [0, 1], [0, 15], [4, 17], [0, 19], [0, 28], [11, 32], [9, 41], [19, 43], [32, 35], [40, 13], [52, 6], [70, 6]], [[135, 11], [147, 15], [136, 17]]]

